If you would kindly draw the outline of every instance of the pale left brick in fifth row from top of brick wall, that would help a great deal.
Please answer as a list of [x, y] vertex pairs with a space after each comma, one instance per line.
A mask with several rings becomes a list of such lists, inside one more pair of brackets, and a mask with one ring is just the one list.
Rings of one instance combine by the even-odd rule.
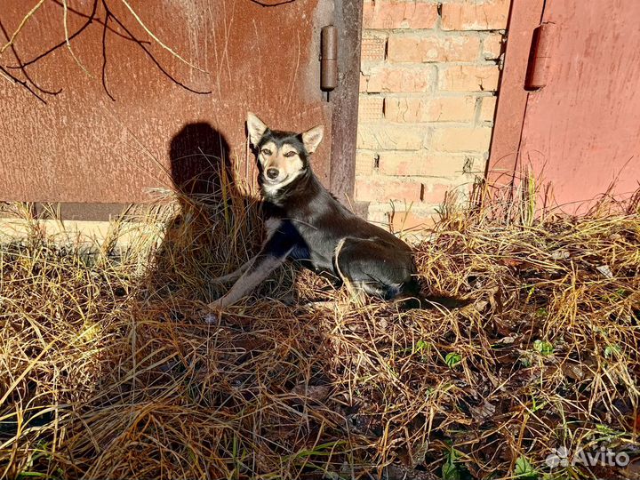
[[359, 124], [357, 148], [417, 150], [424, 146], [427, 130], [417, 125]]

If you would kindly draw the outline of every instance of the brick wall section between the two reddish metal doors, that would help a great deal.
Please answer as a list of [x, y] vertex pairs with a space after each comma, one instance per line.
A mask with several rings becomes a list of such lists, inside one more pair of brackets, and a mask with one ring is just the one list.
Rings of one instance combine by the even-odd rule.
[[484, 175], [509, 0], [364, 0], [356, 201], [429, 224]]

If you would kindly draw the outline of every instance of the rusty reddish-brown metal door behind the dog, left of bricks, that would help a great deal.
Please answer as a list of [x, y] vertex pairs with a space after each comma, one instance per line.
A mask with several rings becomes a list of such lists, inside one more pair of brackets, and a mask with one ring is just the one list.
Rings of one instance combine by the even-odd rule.
[[247, 110], [280, 129], [324, 124], [315, 170], [351, 193], [360, 15], [356, 0], [0, 0], [0, 200], [144, 202], [156, 187], [197, 189], [220, 156], [251, 178]]

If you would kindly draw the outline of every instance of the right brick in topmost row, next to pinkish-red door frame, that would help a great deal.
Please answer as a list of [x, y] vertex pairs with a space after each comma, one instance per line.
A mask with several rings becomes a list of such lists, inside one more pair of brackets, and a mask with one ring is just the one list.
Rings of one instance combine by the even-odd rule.
[[510, 0], [443, 4], [443, 30], [503, 30], [507, 28]]

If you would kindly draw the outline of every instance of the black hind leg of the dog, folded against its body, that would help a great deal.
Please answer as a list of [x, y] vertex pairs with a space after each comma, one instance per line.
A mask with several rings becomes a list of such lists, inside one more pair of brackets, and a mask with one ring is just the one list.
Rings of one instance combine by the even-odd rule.
[[411, 252], [398, 251], [379, 239], [346, 237], [333, 255], [334, 268], [351, 288], [385, 300], [395, 298], [412, 284]]

